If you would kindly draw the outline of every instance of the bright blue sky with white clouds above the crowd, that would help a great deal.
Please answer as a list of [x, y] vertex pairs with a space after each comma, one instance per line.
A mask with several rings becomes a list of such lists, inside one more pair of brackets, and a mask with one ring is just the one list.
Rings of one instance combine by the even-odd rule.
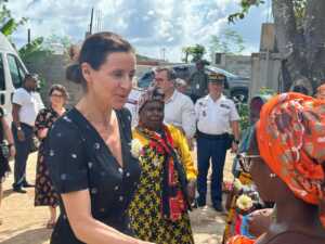
[[[10, 0], [13, 16], [27, 17], [13, 41], [20, 47], [38, 36], [69, 36], [81, 42], [89, 28], [94, 8], [94, 30], [109, 30], [126, 37], [140, 54], [169, 61], [181, 60], [182, 47], [195, 43], [208, 48], [211, 35], [225, 28], [244, 38], [246, 53], [257, 52], [261, 24], [268, 18], [268, 7], [253, 8], [235, 25], [227, 15], [238, 10], [238, 0]], [[100, 20], [100, 26], [96, 23]]]

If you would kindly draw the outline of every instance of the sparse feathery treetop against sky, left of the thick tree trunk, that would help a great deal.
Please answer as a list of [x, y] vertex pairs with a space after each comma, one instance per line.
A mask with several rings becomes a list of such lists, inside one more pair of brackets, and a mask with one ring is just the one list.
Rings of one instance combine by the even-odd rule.
[[235, 30], [225, 29], [219, 36], [212, 35], [209, 51], [211, 54], [221, 53], [242, 53], [244, 51], [243, 37]]

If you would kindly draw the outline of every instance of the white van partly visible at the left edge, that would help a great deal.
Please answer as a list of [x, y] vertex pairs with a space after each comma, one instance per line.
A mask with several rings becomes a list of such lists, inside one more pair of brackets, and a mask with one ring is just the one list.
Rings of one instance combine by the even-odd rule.
[[18, 53], [0, 33], [0, 106], [6, 112], [8, 121], [12, 121], [12, 95], [22, 87], [27, 69]]

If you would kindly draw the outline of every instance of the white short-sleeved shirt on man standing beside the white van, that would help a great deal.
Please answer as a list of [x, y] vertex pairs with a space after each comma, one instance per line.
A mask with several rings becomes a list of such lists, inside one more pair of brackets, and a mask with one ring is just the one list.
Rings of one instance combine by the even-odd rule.
[[38, 112], [44, 107], [40, 94], [18, 88], [13, 94], [12, 102], [21, 105], [20, 121], [34, 127]]

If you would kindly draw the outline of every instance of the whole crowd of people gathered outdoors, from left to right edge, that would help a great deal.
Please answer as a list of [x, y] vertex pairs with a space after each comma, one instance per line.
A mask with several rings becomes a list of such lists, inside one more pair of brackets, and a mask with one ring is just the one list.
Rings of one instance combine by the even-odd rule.
[[[224, 211], [227, 150], [238, 154], [235, 178], [248, 176], [259, 200], [272, 203], [272, 215], [259, 224], [249, 214], [249, 234], [231, 231], [237, 221], [232, 204], [224, 243], [324, 243], [324, 87], [316, 98], [289, 92], [261, 100], [240, 141], [236, 105], [223, 94], [226, 77], [208, 76], [204, 62], [197, 62], [190, 89], [171, 68], [156, 68], [131, 126], [134, 117], [125, 104], [135, 65], [127, 40], [94, 34], [66, 69], [67, 79], [83, 88], [73, 108], [66, 110], [68, 93], [61, 85], [51, 87], [44, 107], [37, 77], [26, 75], [12, 99], [12, 129], [0, 110], [0, 193], [14, 157], [13, 191], [35, 187], [35, 206], [49, 207], [51, 244], [193, 244], [188, 211], [207, 205], [210, 166], [212, 208]], [[26, 163], [35, 137], [40, 144], [34, 185]], [[253, 232], [253, 226], [262, 230]]]

